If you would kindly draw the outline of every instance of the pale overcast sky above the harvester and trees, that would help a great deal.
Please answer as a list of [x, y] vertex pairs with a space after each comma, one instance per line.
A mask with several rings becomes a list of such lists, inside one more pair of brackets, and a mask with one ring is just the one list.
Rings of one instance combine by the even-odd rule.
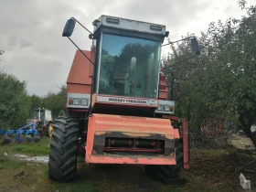
[[[76, 48], [61, 37], [66, 20], [76, 17], [89, 29], [101, 15], [165, 25], [171, 40], [205, 31], [211, 21], [244, 15], [238, 0], [0, 0], [0, 69], [27, 80], [30, 94], [44, 96], [65, 84]], [[247, 0], [249, 5], [255, 0]], [[91, 48], [77, 26], [72, 39]], [[165, 53], [168, 48], [165, 48]]]

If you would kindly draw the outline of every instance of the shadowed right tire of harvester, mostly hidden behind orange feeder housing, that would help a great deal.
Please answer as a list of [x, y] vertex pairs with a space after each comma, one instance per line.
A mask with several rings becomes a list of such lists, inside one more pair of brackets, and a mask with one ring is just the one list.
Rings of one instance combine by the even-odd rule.
[[183, 165], [183, 145], [176, 141], [176, 165], [145, 165], [145, 174], [155, 180], [168, 180], [179, 175]]

